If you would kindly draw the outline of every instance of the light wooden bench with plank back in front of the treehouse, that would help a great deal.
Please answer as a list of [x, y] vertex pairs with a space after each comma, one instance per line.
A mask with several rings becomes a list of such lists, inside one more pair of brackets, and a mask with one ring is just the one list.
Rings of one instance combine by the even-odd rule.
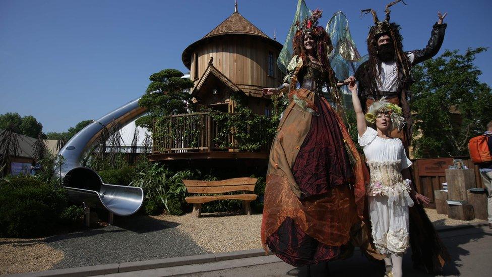
[[256, 200], [258, 195], [253, 193], [245, 193], [247, 191], [255, 191], [257, 178], [233, 178], [222, 181], [199, 181], [199, 180], [182, 180], [188, 193], [226, 193], [233, 191], [242, 191], [242, 194], [230, 195], [206, 195], [206, 196], [188, 196], [184, 198], [186, 202], [193, 204], [193, 213], [200, 217], [203, 203], [223, 200], [235, 199], [242, 200], [242, 208], [245, 214], [251, 214], [250, 202]]

